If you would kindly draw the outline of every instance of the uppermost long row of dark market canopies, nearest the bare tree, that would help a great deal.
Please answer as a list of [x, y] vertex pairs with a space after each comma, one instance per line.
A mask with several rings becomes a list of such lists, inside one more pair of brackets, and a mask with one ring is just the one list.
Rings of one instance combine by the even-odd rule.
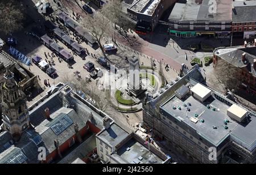
[[90, 35], [89, 32], [86, 31], [85, 28], [81, 27], [77, 23], [75, 23], [71, 18], [69, 18], [68, 15], [66, 15], [64, 12], [60, 12], [59, 20], [64, 23], [71, 31], [76, 32], [77, 35], [88, 41], [88, 44], [91, 47], [94, 47], [97, 45], [96, 39], [92, 35]]

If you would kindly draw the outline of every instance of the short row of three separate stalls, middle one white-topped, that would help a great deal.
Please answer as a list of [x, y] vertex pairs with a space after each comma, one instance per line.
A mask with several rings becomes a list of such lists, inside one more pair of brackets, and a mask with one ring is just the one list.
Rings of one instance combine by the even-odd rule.
[[56, 75], [56, 69], [54, 67], [50, 67], [49, 64], [42, 59], [42, 57], [35, 56], [32, 58], [32, 62], [34, 62], [35, 65], [38, 65], [43, 71], [46, 71], [49, 76]]

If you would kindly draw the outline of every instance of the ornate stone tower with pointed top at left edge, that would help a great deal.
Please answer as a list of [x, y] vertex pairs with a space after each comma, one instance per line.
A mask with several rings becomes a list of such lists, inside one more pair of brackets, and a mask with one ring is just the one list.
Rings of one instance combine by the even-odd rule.
[[29, 127], [26, 96], [14, 80], [13, 72], [7, 68], [4, 74], [5, 83], [1, 87], [2, 125], [3, 130], [9, 131], [16, 142], [23, 131]]

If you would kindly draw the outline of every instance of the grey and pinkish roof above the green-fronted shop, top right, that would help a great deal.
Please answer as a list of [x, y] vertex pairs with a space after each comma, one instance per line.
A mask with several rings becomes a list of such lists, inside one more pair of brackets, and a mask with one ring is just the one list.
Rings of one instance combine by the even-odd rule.
[[231, 21], [232, 0], [216, 0], [216, 10], [209, 10], [210, 0], [197, 3], [196, 0], [188, 0], [187, 3], [176, 3], [169, 20], [179, 21]]

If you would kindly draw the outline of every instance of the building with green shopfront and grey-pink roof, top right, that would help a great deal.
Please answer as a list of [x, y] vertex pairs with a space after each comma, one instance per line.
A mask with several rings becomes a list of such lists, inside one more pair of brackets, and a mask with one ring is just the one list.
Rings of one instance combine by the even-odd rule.
[[[232, 0], [176, 3], [168, 19], [170, 35], [177, 37], [230, 37]], [[213, 4], [214, 5], [214, 4]]]

